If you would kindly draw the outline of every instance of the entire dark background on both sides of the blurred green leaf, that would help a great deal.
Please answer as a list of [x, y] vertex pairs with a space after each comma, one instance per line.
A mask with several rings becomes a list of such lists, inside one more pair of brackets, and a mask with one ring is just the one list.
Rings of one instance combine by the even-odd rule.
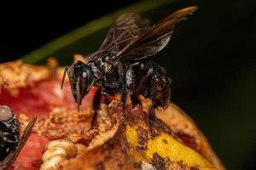
[[[90, 20], [136, 2], [2, 6], [0, 61], [19, 59]], [[172, 102], [195, 120], [224, 165], [256, 169], [255, 3], [179, 0], [159, 8], [150, 19], [190, 5], [199, 10], [177, 26], [168, 47], [153, 59], [172, 77]], [[95, 43], [99, 47], [100, 42]], [[97, 47], [73, 54], [89, 54]]]

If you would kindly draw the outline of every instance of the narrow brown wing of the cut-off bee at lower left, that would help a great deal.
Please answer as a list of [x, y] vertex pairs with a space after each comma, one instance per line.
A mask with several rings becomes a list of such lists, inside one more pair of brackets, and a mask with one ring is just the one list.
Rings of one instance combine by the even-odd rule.
[[15, 150], [12, 150], [2, 162], [0, 162], [0, 170], [8, 169], [11, 164], [15, 161], [17, 156], [20, 154], [20, 150], [26, 144], [26, 140], [29, 138], [32, 133], [32, 128], [34, 127], [35, 122], [37, 122], [37, 117], [33, 117], [32, 121], [26, 126], [23, 135], [21, 136], [19, 143], [17, 144]]

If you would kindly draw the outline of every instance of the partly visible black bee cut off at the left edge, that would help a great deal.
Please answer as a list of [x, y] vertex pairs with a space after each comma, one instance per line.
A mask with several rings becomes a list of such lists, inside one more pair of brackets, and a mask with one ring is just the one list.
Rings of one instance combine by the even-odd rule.
[[8, 169], [15, 161], [36, 121], [36, 117], [32, 118], [20, 137], [20, 124], [14, 111], [6, 105], [0, 105], [0, 170]]

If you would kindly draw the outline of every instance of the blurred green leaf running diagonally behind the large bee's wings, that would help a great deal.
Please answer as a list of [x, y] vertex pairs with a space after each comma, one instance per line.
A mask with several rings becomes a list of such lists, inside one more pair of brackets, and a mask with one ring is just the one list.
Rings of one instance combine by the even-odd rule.
[[61, 65], [70, 64], [73, 61], [73, 54], [90, 54], [96, 51], [103, 41], [104, 35], [107, 34], [109, 26], [113, 24], [113, 21], [120, 14], [137, 13], [152, 16], [155, 13], [160, 13], [160, 10], [156, 10], [156, 8], [173, 2], [174, 0], [158, 0], [134, 3], [112, 14], [106, 14], [99, 19], [92, 20], [84, 26], [80, 26], [41, 48], [26, 54], [21, 59], [26, 63], [44, 64], [49, 56], [53, 56], [58, 59]]

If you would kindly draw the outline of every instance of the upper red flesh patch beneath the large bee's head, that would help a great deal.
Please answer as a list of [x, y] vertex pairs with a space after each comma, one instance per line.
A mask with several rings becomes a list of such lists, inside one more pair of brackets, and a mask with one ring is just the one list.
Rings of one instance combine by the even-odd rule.
[[[89, 94], [84, 97], [80, 109], [91, 107], [91, 97], [95, 91], [96, 88], [91, 88]], [[22, 112], [26, 116], [38, 117], [48, 115], [55, 107], [77, 108], [69, 83], [66, 82], [64, 89], [61, 90], [61, 82], [56, 80], [36, 82], [32, 88], [20, 88], [18, 97], [3, 89], [0, 94], [0, 105], [8, 105], [18, 114]]]

